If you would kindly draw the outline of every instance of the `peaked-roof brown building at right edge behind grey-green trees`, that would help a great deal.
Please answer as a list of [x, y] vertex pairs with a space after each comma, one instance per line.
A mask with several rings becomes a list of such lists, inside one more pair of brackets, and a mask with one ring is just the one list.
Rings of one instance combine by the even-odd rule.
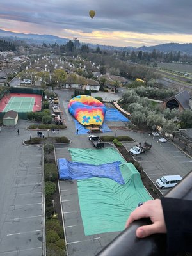
[[184, 90], [177, 95], [164, 99], [162, 102], [163, 109], [178, 109], [180, 112], [186, 109], [191, 109], [190, 107], [190, 95], [188, 91]]

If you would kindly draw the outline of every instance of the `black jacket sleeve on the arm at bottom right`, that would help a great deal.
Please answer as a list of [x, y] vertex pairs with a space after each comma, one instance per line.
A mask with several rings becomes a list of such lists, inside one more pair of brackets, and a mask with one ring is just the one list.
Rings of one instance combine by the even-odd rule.
[[161, 198], [167, 228], [168, 255], [192, 252], [192, 201]]

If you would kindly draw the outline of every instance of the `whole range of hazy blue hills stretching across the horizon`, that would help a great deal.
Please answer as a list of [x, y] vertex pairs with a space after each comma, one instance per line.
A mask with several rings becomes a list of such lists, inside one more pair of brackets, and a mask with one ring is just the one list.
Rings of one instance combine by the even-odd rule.
[[[67, 42], [70, 40], [68, 38], [61, 38], [58, 36], [52, 36], [52, 35], [38, 35], [38, 34], [24, 34], [24, 33], [14, 33], [11, 31], [4, 31], [0, 29], [0, 38], [12, 38], [14, 39], [22, 39], [28, 42], [28, 44], [36, 43], [36, 44], [42, 44], [45, 42], [46, 44], [67, 44]], [[86, 44], [81, 42], [81, 44]], [[169, 43], [169, 44], [159, 44], [154, 46], [142, 46], [139, 48], [136, 47], [116, 47], [116, 46], [109, 46], [109, 45], [99, 45], [99, 44], [88, 44], [91, 48], [96, 48], [97, 46], [100, 47], [100, 49], [103, 50], [115, 50], [115, 51], [148, 51], [152, 52], [153, 49], [156, 49], [157, 51], [161, 52], [170, 52], [170, 51], [180, 51], [182, 53], [186, 54], [192, 54], [192, 43], [190, 44], [177, 44], [177, 43]]]

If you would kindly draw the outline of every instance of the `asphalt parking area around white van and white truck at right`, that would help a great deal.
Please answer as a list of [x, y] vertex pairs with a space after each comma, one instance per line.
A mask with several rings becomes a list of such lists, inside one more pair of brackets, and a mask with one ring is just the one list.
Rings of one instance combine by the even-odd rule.
[[[145, 154], [134, 156], [134, 158], [143, 166], [145, 173], [154, 183], [156, 183], [156, 179], [163, 175], [184, 177], [191, 170], [191, 157], [180, 151], [171, 141], [160, 143], [158, 137], [151, 136], [148, 133], [128, 132], [128, 135], [134, 138], [136, 142], [124, 143], [127, 150], [139, 142], [147, 141], [152, 144], [151, 150]], [[168, 189], [160, 190], [163, 195], [168, 191]]]

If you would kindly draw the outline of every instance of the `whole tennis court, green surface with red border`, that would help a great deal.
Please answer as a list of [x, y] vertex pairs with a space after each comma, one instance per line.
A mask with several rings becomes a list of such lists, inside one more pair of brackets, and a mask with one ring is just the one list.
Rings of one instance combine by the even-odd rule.
[[8, 112], [14, 110], [17, 112], [31, 112], [41, 110], [41, 95], [10, 93], [1, 100], [0, 111]]

